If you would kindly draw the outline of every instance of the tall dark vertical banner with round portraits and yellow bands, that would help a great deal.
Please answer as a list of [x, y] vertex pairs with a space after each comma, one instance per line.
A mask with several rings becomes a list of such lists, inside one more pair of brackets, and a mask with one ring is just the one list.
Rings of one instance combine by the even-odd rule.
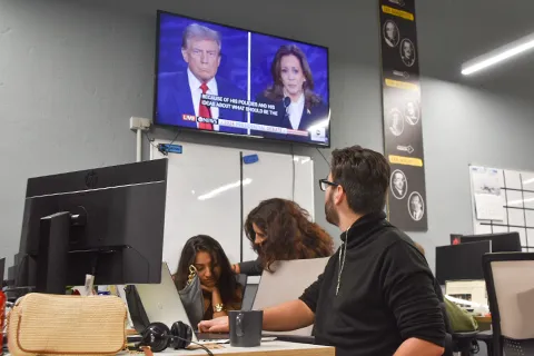
[[389, 221], [428, 229], [415, 0], [379, 0], [385, 156]]

